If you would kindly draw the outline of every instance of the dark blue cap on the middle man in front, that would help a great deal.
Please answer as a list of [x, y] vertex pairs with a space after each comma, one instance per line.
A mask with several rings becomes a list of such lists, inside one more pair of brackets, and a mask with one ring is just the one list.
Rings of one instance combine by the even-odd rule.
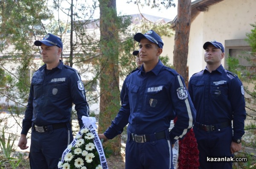
[[137, 33], [134, 35], [134, 40], [137, 42], [140, 42], [142, 38], [147, 38], [150, 42], [157, 44], [159, 48], [163, 48], [163, 41], [161, 37], [153, 30], [147, 31], [145, 34]]

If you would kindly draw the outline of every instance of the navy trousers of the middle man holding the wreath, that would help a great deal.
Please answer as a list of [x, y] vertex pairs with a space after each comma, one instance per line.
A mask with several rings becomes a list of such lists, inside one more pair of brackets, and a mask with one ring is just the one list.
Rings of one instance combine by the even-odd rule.
[[163, 138], [136, 143], [130, 137], [125, 147], [125, 169], [173, 169], [172, 143]]

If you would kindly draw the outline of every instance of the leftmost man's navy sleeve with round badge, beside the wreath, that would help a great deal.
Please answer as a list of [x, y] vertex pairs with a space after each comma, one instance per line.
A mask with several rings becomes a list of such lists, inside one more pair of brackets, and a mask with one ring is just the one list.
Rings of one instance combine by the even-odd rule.
[[82, 116], [89, 115], [89, 106], [86, 101], [84, 85], [77, 71], [70, 76], [70, 94], [75, 104], [79, 126], [81, 128], [83, 126]]

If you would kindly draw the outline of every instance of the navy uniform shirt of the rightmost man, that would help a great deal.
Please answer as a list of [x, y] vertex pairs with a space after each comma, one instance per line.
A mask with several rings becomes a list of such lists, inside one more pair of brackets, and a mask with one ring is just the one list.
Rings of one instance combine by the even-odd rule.
[[233, 138], [242, 137], [246, 117], [244, 87], [235, 74], [222, 65], [212, 73], [204, 69], [190, 78], [189, 94], [198, 123], [209, 125], [233, 120]]

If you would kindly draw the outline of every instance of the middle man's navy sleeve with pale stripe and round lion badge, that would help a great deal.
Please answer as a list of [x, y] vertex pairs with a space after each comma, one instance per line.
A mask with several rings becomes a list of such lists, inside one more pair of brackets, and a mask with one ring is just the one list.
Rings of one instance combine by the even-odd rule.
[[173, 86], [170, 88], [171, 101], [177, 116], [175, 126], [170, 131], [172, 144], [184, 137], [195, 123], [195, 107], [192, 104], [183, 78], [175, 76]]

